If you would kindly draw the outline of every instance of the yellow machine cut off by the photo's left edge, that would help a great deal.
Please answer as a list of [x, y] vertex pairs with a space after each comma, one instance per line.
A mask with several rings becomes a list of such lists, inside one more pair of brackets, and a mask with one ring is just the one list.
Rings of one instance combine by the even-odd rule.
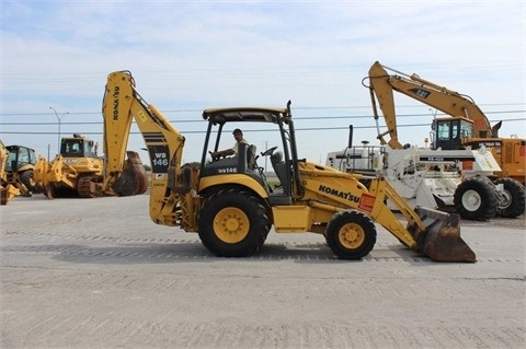
[[37, 190], [33, 181], [35, 151], [24, 146], [4, 146], [0, 140], [1, 205], [13, 197], [31, 196]]

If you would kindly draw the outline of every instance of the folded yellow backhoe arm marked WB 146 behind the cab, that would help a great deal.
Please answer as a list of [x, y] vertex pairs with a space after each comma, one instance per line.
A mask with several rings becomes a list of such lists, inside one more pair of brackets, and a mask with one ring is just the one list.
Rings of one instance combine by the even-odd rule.
[[108, 75], [102, 115], [106, 155], [104, 187], [115, 186], [126, 177], [124, 155], [135, 120], [150, 156], [150, 218], [158, 224], [195, 229], [194, 218], [181, 221], [184, 216], [181, 206], [184, 206], [185, 196], [191, 195], [192, 170], [181, 168], [185, 138], [160, 110], [141, 98], [130, 72], [117, 71]]

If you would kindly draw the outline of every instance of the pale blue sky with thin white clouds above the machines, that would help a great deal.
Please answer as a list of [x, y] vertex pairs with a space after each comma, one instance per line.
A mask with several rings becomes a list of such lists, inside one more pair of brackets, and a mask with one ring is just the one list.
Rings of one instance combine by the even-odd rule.
[[[186, 137], [185, 162], [201, 159], [203, 109], [289, 100], [300, 158], [324, 163], [350, 125], [355, 144], [379, 144], [362, 84], [375, 61], [469, 95], [503, 121], [501, 137], [526, 137], [524, 1], [0, 3], [0, 139], [46, 158], [59, 136], [102, 144], [104, 86], [121, 70]], [[402, 143], [424, 146], [436, 110], [396, 104]], [[133, 131], [128, 149], [147, 162]], [[259, 151], [277, 146], [256, 127], [244, 133]]]

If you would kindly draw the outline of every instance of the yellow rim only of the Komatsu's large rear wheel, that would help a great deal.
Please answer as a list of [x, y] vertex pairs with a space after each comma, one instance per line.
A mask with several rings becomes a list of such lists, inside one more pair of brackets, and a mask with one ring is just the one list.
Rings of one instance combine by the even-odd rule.
[[228, 244], [241, 242], [249, 234], [249, 218], [238, 208], [224, 208], [214, 219], [216, 236]]

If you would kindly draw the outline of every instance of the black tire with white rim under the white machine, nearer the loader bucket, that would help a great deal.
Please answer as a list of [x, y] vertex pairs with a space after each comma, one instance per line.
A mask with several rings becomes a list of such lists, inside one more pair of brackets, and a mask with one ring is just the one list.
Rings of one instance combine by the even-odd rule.
[[496, 213], [495, 187], [484, 177], [467, 178], [455, 190], [454, 203], [456, 212], [462, 219], [488, 221]]

